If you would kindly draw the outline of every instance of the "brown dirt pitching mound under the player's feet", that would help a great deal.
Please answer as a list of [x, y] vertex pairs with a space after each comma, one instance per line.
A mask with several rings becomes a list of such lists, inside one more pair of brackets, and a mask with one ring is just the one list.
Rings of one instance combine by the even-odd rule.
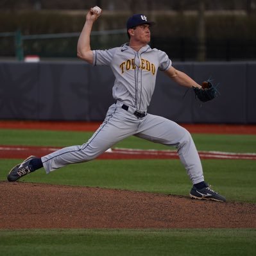
[[0, 228], [256, 228], [256, 205], [0, 182]]

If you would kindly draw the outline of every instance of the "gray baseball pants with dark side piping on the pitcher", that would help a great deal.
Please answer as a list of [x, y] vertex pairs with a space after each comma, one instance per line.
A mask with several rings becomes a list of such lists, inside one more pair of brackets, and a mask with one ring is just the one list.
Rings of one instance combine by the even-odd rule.
[[44, 169], [49, 173], [67, 164], [88, 162], [131, 135], [167, 146], [175, 146], [192, 183], [204, 180], [198, 151], [185, 128], [158, 115], [147, 114], [146, 117], [139, 119], [118, 104], [108, 108], [105, 121], [89, 141], [80, 146], [62, 148], [42, 157]]

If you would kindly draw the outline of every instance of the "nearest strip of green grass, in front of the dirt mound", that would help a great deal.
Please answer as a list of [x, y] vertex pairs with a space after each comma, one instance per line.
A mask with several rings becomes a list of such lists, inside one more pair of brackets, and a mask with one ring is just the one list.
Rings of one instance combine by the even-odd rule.
[[0, 230], [1, 255], [254, 255], [256, 230]]

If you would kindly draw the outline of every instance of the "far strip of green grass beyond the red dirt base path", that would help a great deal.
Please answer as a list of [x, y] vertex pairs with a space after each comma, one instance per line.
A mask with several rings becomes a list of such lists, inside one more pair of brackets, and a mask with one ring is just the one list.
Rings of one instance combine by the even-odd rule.
[[[71, 146], [83, 144], [92, 132], [61, 132], [41, 130], [0, 129], [2, 145]], [[256, 153], [256, 135], [192, 134], [198, 150]], [[119, 148], [167, 149], [137, 137], [129, 137], [115, 145]], [[172, 148], [173, 149], [173, 148]]]

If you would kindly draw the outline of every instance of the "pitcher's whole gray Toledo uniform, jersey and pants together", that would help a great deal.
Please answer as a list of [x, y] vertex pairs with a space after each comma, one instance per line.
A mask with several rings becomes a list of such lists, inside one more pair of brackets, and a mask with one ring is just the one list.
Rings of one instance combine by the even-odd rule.
[[171, 67], [166, 53], [148, 45], [137, 52], [124, 44], [108, 50], [95, 50], [93, 56], [94, 65], [108, 65], [115, 75], [112, 94], [116, 103], [108, 108], [105, 120], [89, 141], [42, 157], [46, 173], [67, 164], [92, 160], [115, 143], [135, 135], [175, 146], [192, 183], [202, 182], [201, 161], [190, 133], [169, 119], [147, 113], [157, 71]]

